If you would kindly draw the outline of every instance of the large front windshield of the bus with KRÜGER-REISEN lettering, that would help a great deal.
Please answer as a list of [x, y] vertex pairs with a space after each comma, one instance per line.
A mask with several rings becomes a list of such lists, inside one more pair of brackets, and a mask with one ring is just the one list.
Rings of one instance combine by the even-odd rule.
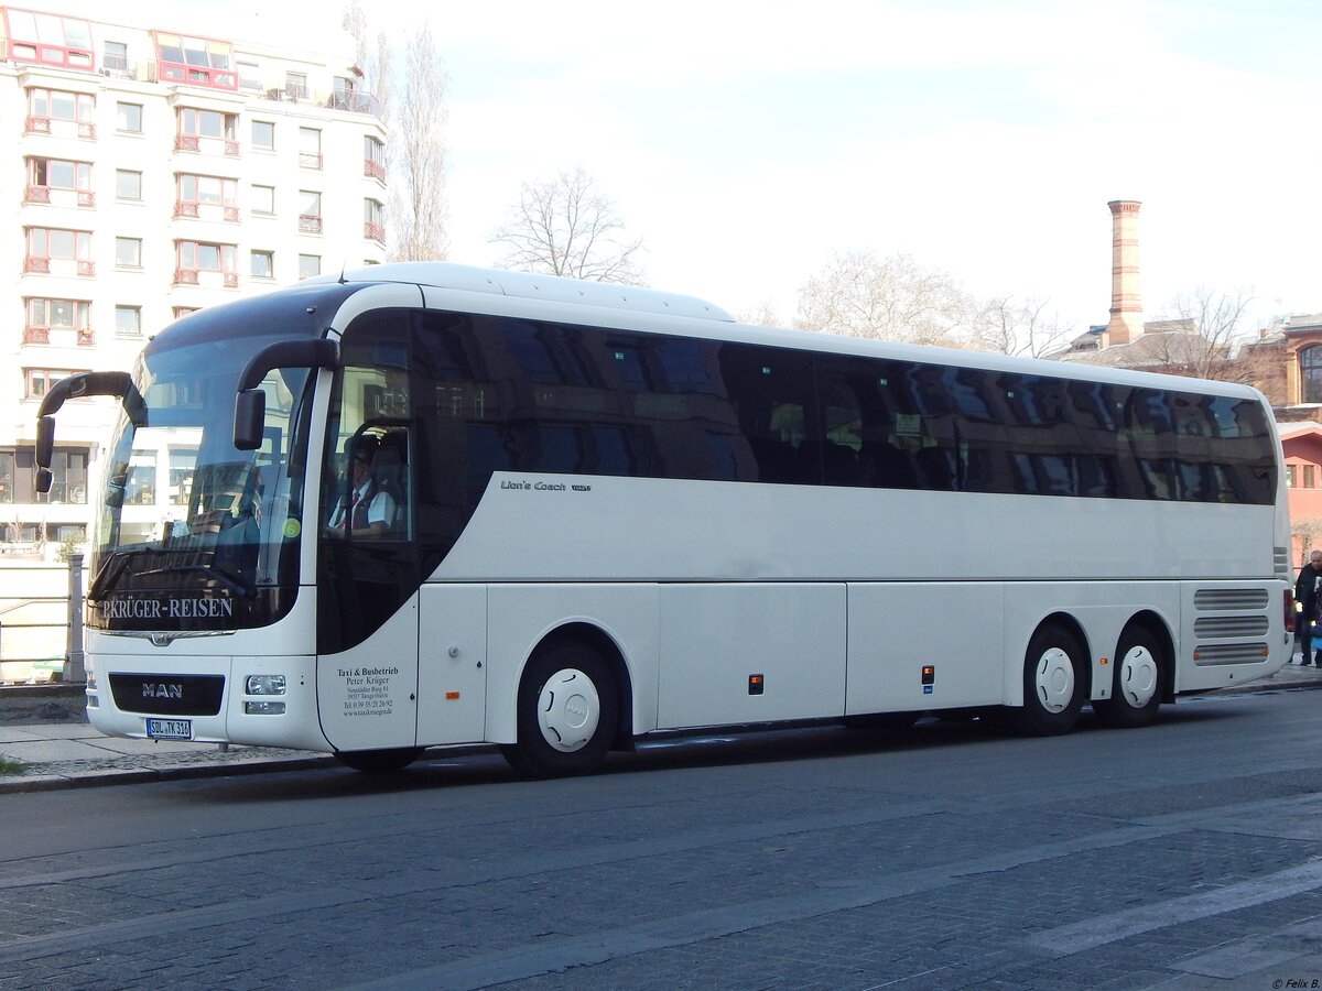
[[292, 604], [309, 375], [267, 374], [262, 447], [238, 451], [234, 396], [246, 358], [234, 341], [213, 338], [148, 348], [139, 359], [145, 414], [122, 412], [112, 435], [90, 625], [225, 630], [264, 625]]

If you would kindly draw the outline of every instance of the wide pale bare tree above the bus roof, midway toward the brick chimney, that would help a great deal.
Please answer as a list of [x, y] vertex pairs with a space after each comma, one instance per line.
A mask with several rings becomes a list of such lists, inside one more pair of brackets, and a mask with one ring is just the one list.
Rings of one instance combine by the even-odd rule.
[[849, 337], [969, 344], [976, 304], [945, 272], [908, 255], [878, 259], [870, 251], [836, 258], [798, 291], [795, 325]]

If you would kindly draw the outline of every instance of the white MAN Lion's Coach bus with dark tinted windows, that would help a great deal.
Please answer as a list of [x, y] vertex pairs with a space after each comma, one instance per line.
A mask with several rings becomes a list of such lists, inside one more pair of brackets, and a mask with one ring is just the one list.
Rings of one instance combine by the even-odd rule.
[[[361, 769], [488, 741], [554, 776], [715, 725], [1141, 725], [1289, 655], [1281, 451], [1244, 386], [405, 263], [63, 379], [38, 465], [87, 395], [120, 399], [86, 616], [110, 735]], [[131, 522], [135, 449], [169, 451], [178, 519]]]

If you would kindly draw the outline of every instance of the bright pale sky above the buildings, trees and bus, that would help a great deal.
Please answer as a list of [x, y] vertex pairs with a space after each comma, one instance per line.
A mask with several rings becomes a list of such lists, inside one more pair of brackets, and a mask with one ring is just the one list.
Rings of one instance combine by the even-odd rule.
[[[341, 9], [93, 16], [120, 4], [309, 48]], [[833, 255], [866, 250], [1105, 324], [1112, 200], [1142, 202], [1146, 318], [1203, 291], [1252, 296], [1247, 329], [1322, 312], [1311, 0], [364, 7], [399, 61], [423, 18], [444, 61], [453, 262], [494, 264], [521, 185], [582, 166], [642, 238], [650, 285], [781, 322]]]

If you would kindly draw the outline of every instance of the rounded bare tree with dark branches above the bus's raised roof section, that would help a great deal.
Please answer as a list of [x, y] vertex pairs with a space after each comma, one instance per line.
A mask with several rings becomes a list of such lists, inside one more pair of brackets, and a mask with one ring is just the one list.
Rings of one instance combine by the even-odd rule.
[[521, 272], [640, 285], [641, 239], [624, 234], [615, 203], [582, 166], [550, 182], [525, 182], [509, 219], [492, 237], [500, 264]]

